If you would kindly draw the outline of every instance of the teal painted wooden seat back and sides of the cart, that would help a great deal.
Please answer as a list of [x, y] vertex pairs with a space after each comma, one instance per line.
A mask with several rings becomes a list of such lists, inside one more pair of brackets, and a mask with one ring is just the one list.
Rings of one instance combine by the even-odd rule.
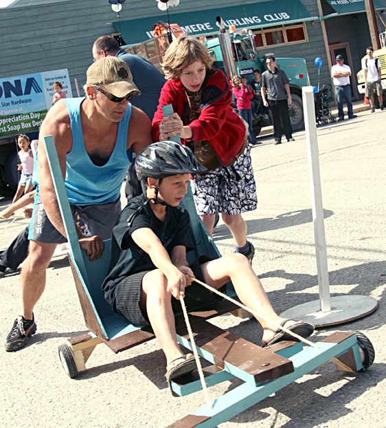
[[[52, 138], [52, 136], [47, 136], [44, 138], [44, 142], [60, 211], [69, 241], [71, 268], [76, 279], [78, 296], [80, 298], [87, 327], [91, 332], [104, 340], [117, 339], [119, 336], [140, 329], [140, 325], [130, 324], [124, 317], [114, 312], [109, 303], [104, 299], [101, 286], [109, 270], [111, 240], [109, 239], [104, 242], [104, 252], [102, 257], [97, 261], [90, 261], [89, 257], [80, 249], [67, 193], [65, 191], [63, 176], [59, 167], [54, 138]], [[185, 209], [187, 209], [190, 214], [190, 228], [195, 241], [194, 250], [188, 253], [188, 262], [191, 263], [194, 261], [198, 255], [207, 255], [212, 259], [220, 257], [216, 245], [207, 234], [203, 223], [196, 214], [196, 208], [194, 207], [192, 192], [190, 190], [184, 198], [184, 205]], [[231, 288], [229, 288], [229, 290], [231, 290]]]

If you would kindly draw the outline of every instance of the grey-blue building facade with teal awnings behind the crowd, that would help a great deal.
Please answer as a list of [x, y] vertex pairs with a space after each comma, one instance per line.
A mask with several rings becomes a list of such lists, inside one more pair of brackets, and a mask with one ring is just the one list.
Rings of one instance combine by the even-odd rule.
[[[386, 0], [374, 1], [383, 32]], [[256, 34], [260, 56], [273, 52], [305, 58], [312, 85], [331, 83], [330, 66], [337, 53], [343, 54], [352, 67], [356, 96], [356, 72], [371, 44], [363, 0], [212, 0], [209, 5], [206, 0], [180, 0], [169, 12], [170, 23], [194, 36], [218, 32], [216, 16], [225, 14], [227, 23], [236, 21], [237, 28]], [[0, 9], [0, 78], [68, 69], [73, 95], [83, 95], [95, 39], [122, 32], [126, 44], [137, 43], [159, 19], [167, 16], [155, 0], [126, 0], [119, 19], [108, 0], [15, 0]], [[323, 60], [320, 70], [317, 57]]]

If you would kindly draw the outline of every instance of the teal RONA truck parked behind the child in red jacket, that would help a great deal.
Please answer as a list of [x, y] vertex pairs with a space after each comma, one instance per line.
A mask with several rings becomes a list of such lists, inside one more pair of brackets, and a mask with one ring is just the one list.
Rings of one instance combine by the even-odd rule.
[[[225, 41], [223, 40], [224, 35], [227, 36]], [[222, 69], [229, 77], [231, 74], [237, 73], [252, 80], [254, 69], [258, 69], [261, 73], [266, 70], [265, 56], [260, 57], [258, 54], [251, 30], [234, 30], [225, 34], [220, 32], [217, 37], [205, 39], [203, 43], [207, 45], [209, 54], [213, 58], [213, 66]], [[124, 46], [124, 49], [131, 54], [143, 56], [162, 72], [161, 64], [169, 44], [170, 36], [161, 34], [137, 45]], [[290, 81], [293, 102], [289, 106], [289, 114], [293, 130], [299, 131], [304, 127], [302, 87], [310, 85], [306, 60], [304, 58], [276, 58], [276, 62]], [[233, 63], [233, 65], [229, 63]], [[272, 125], [270, 118], [254, 119], [255, 135], [260, 133], [262, 127], [269, 125]]]

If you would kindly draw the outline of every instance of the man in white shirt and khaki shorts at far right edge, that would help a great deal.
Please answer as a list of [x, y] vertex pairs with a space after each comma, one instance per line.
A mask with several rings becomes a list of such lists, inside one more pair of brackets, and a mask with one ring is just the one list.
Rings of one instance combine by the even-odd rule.
[[367, 47], [366, 54], [367, 58], [365, 59], [365, 67], [363, 67], [363, 72], [365, 74], [365, 96], [370, 103], [371, 112], [374, 113], [374, 93], [378, 95], [379, 107], [383, 110], [383, 89], [381, 83], [381, 61], [378, 58], [373, 56], [374, 49], [372, 46]]

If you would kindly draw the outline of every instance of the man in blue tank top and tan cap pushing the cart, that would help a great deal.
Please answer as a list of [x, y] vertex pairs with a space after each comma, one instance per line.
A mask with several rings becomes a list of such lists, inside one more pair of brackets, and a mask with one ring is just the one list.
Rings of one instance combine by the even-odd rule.
[[[80, 247], [95, 260], [120, 214], [120, 189], [133, 151], [139, 153], [152, 139], [149, 118], [129, 103], [140, 92], [124, 61], [108, 56], [93, 63], [84, 91], [84, 98], [55, 103], [40, 139], [54, 136], [71, 209], [86, 224], [87, 233], [77, 227]], [[44, 144], [39, 145], [38, 174], [30, 253], [21, 270], [22, 311], [5, 342], [10, 352], [36, 332], [33, 310], [45, 288], [45, 270], [56, 244], [66, 241]]]

